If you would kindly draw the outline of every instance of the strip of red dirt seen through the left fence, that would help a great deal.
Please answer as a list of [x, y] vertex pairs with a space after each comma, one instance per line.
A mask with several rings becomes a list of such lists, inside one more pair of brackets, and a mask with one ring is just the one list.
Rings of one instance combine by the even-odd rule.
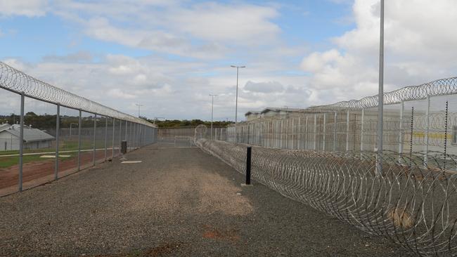
[[[73, 154], [73, 153], [72, 153]], [[108, 159], [111, 158], [112, 152], [108, 151]], [[105, 151], [96, 152], [96, 163], [103, 162], [105, 160]], [[80, 168], [85, 169], [92, 166], [94, 162], [94, 152], [82, 152], [81, 153], [81, 164]], [[48, 180], [53, 180], [53, 174], [55, 170], [56, 162], [54, 159], [44, 159], [39, 162], [30, 162], [22, 166], [22, 183], [23, 187], [33, 187], [46, 183], [43, 178], [49, 177]], [[73, 173], [77, 171], [77, 154], [70, 157], [69, 159], [60, 160], [59, 162], [59, 177]], [[8, 187], [15, 187], [17, 190], [19, 180], [19, 165], [11, 166], [6, 169], [0, 169], [0, 195], [3, 195], [4, 191]], [[34, 180], [37, 183], [34, 183]], [[6, 193], [8, 193], [6, 192]], [[14, 192], [14, 189], [13, 189]]]

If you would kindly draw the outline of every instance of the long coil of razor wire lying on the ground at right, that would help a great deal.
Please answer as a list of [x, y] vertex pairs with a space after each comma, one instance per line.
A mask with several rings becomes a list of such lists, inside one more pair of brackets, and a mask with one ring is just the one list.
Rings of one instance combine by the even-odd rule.
[[[245, 173], [246, 145], [199, 139]], [[432, 153], [316, 152], [252, 147], [252, 177], [273, 190], [420, 256], [457, 254], [456, 157]]]

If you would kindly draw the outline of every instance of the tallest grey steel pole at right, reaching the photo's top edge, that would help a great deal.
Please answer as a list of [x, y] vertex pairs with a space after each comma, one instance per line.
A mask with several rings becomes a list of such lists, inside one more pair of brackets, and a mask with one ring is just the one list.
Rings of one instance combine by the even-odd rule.
[[380, 40], [379, 40], [379, 92], [378, 92], [378, 154], [376, 154], [376, 174], [382, 174], [382, 125], [384, 118], [384, 0], [381, 1]]

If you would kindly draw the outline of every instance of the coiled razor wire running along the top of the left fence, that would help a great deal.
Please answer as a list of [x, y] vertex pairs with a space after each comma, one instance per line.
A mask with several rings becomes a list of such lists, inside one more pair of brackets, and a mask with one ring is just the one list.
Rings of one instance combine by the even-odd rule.
[[144, 119], [139, 119], [130, 114], [114, 110], [105, 105], [101, 105], [94, 101], [83, 98], [82, 96], [75, 95], [61, 88], [48, 84], [39, 79], [16, 70], [15, 68], [0, 62], [0, 88], [8, 91], [35, 98], [37, 100], [44, 100], [48, 103], [60, 104], [63, 107], [69, 107], [84, 112], [91, 112], [94, 114], [101, 114], [103, 116], [112, 117], [115, 119], [122, 119], [124, 121], [131, 121], [146, 126], [153, 126], [150, 122]]

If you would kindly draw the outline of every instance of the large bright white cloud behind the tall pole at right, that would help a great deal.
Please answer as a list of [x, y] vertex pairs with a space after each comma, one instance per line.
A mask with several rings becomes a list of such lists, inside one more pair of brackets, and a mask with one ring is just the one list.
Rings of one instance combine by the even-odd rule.
[[[335, 48], [302, 60], [316, 104], [375, 95], [378, 87], [379, 1], [356, 0], [356, 28], [335, 37]], [[457, 1], [385, 3], [385, 88], [422, 84], [457, 72]]]

